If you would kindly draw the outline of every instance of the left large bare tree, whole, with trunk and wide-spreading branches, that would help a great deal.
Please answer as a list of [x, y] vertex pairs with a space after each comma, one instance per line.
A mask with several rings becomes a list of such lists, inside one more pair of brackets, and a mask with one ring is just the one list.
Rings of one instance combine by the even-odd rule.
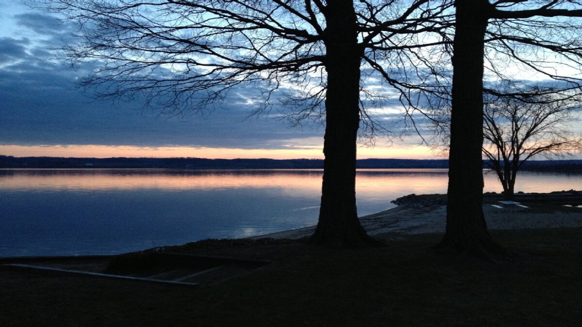
[[[100, 97], [145, 97], [170, 115], [204, 111], [239, 87], [254, 87], [256, 112], [285, 98], [292, 119], [325, 120], [324, 177], [311, 241], [334, 247], [377, 244], [357, 218], [360, 125], [370, 120], [365, 88], [379, 79], [405, 94], [414, 76], [394, 70], [415, 49], [442, 44], [450, 3], [428, 0], [32, 0], [79, 26], [63, 59], [87, 61], [81, 86]], [[409, 52], [410, 56], [402, 55]], [[400, 58], [398, 62], [392, 58]], [[364, 73], [363, 73], [364, 72]], [[420, 78], [420, 77], [419, 77]], [[297, 102], [299, 101], [299, 102]], [[408, 101], [404, 95], [403, 102]]]

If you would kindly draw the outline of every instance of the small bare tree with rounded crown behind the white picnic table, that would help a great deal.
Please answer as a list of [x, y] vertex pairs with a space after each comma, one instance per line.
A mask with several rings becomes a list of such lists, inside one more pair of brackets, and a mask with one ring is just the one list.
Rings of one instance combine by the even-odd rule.
[[517, 172], [528, 159], [568, 155], [582, 149], [582, 138], [572, 132], [582, 102], [579, 97], [552, 98], [551, 94], [491, 96], [485, 102], [483, 154], [486, 165], [499, 177], [506, 200], [513, 200]]

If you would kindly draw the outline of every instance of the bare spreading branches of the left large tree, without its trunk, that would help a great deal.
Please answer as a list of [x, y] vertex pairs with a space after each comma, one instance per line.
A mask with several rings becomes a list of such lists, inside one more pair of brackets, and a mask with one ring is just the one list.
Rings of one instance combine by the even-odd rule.
[[[91, 62], [94, 71], [80, 84], [97, 86], [101, 97], [143, 95], [148, 104], [179, 114], [204, 110], [235, 87], [254, 87], [255, 113], [280, 106], [283, 99], [292, 105], [288, 116], [294, 123], [325, 117], [326, 1], [33, 3], [78, 24], [79, 33], [61, 48], [61, 58]], [[363, 80], [364, 98], [382, 101], [403, 94], [403, 104], [413, 105], [409, 89], [438, 93], [425, 83], [430, 73], [419, 60], [425, 58], [421, 52], [450, 42], [443, 31], [453, 24], [451, 8], [450, 1], [354, 3], [363, 78], [385, 87]], [[361, 109], [370, 103], [363, 101]], [[367, 117], [370, 130], [382, 128]]]

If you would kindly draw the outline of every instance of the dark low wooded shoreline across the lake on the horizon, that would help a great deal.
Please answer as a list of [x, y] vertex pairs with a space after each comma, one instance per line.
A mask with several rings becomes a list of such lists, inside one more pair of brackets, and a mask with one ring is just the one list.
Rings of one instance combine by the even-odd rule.
[[[359, 159], [360, 169], [446, 169], [447, 159]], [[62, 158], [0, 155], [1, 169], [322, 169], [322, 159]], [[528, 161], [524, 170], [582, 170], [582, 160]]]

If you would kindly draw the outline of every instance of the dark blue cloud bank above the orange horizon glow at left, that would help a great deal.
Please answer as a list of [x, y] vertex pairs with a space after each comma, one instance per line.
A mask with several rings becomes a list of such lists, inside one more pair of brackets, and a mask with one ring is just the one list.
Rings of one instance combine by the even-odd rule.
[[233, 94], [226, 109], [215, 110], [207, 119], [160, 116], [156, 108], [144, 109], [140, 98], [94, 100], [91, 90], [75, 87], [79, 72], [34, 59], [19, 47], [21, 41], [3, 42], [12, 45], [3, 51], [6, 62], [20, 59], [0, 68], [0, 144], [279, 148], [289, 138], [321, 136], [317, 130], [288, 129], [275, 119], [245, 119], [250, 108], [236, 103], [250, 96], [249, 90], [244, 97]]

